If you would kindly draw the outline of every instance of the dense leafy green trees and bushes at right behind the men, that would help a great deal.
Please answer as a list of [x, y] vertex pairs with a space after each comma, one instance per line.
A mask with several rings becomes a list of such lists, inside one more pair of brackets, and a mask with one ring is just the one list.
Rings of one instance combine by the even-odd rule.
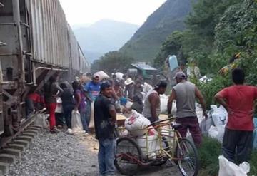
[[199, 0], [186, 18], [186, 30], [171, 33], [162, 44], [155, 66], [168, 54], [181, 63], [196, 61], [201, 74], [213, 81], [199, 84], [208, 105], [221, 88], [231, 85], [230, 74], [218, 73], [236, 53], [236, 66], [244, 68], [247, 83], [257, 84], [257, 2], [255, 0]]

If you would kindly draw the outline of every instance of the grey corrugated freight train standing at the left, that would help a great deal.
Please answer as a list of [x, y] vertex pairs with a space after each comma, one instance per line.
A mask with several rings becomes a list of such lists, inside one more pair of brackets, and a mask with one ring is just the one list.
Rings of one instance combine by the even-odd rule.
[[26, 96], [50, 76], [89, 69], [58, 0], [0, 0], [0, 135], [21, 128]]

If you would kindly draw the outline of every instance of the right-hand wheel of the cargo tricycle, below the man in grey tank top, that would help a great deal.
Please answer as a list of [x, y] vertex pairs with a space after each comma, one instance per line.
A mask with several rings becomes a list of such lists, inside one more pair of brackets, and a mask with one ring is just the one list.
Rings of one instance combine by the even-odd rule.
[[198, 153], [195, 145], [190, 140], [182, 138], [176, 148], [178, 168], [184, 176], [196, 176], [198, 174]]

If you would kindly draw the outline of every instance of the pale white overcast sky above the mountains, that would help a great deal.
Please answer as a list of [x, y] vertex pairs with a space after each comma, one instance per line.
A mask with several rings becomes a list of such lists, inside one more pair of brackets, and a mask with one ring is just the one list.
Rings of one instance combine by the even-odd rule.
[[113, 19], [141, 25], [166, 0], [59, 0], [71, 26]]

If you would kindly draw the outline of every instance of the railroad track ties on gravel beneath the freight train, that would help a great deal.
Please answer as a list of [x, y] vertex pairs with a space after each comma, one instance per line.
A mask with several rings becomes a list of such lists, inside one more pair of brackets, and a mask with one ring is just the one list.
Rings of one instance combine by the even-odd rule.
[[41, 130], [41, 126], [34, 125], [36, 115], [24, 120], [19, 131], [14, 135], [1, 138], [0, 142], [0, 176], [9, 171], [9, 165], [21, 157], [29, 143]]

